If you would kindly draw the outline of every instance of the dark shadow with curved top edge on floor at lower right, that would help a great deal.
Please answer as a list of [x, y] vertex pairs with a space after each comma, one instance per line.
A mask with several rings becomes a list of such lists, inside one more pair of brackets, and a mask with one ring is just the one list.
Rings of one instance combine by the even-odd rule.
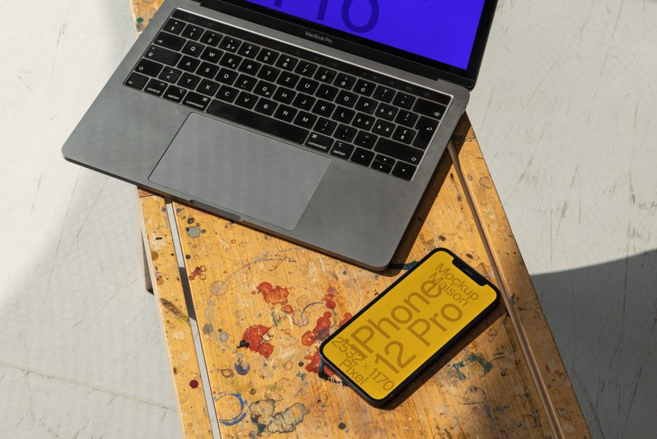
[[657, 431], [657, 251], [532, 276], [593, 438]]

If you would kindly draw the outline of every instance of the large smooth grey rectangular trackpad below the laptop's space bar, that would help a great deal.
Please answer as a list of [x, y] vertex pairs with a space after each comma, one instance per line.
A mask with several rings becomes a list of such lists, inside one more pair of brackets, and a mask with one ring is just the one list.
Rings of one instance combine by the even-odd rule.
[[293, 230], [331, 159], [192, 113], [149, 180]]

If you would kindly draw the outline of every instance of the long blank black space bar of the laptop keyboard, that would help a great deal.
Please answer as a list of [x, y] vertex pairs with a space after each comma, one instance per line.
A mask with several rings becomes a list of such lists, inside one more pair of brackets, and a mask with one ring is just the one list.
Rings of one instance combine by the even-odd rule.
[[[242, 93], [244, 94], [244, 92]], [[256, 96], [251, 96], [254, 100], [256, 99]], [[290, 125], [281, 120], [262, 116], [219, 100], [212, 101], [208, 107], [208, 113], [299, 145], [303, 145], [306, 137], [308, 137], [307, 129], [295, 127], [295, 125]]]

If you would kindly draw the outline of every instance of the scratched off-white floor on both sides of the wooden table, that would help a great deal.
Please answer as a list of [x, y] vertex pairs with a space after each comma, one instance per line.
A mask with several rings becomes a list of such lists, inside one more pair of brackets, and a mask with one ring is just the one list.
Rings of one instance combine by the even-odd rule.
[[[134, 189], [60, 155], [134, 41], [128, 2], [0, 16], [0, 438], [177, 438]], [[500, 0], [468, 110], [596, 438], [657, 429], [655, 22]]]

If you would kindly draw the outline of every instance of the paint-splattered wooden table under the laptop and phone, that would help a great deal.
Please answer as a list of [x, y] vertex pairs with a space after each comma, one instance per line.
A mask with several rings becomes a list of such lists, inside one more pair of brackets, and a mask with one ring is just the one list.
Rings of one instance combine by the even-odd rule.
[[[159, 3], [133, 0], [138, 31]], [[139, 206], [186, 437], [212, 423], [222, 438], [589, 437], [467, 116], [383, 272], [150, 192]], [[396, 408], [374, 409], [319, 369], [319, 322], [335, 328], [435, 247], [504, 300]]]

